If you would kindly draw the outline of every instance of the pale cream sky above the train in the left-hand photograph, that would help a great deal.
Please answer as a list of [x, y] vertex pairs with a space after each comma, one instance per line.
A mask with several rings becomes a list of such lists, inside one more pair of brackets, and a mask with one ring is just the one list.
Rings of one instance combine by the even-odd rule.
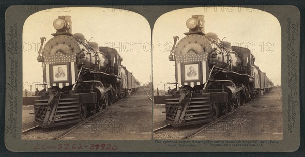
[[[39, 11], [29, 16], [23, 27], [23, 90], [42, 83], [42, 64], [37, 62], [40, 37], [47, 41], [56, 30], [53, 21], [58, 16], [72, 18], [72, 33], [82, 33], [99, 46], [115, 48], [122, 64], [139, 82], [150, 82], [151, 29], [140, 14], [113, 8], [69, 7]], [[46, 42], [45, 42], [46, 43]], [[44, 43], [44, 44], [45, 44]], [[42, 87], [39, 87], [41, 89]], [[35, 88], [32, 87], [32, 91]]]

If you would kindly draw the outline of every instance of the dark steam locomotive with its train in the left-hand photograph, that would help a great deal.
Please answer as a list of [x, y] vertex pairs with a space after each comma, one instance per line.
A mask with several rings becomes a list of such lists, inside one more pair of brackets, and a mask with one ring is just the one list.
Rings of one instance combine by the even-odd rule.
[[72, 34], [71, 16], [59, 16], [53, 26], [53, 38], [45, 45], [46, 38], [40, 38], [37, 57], [44, 80], [34, 100], [34, 121], [40, 127], [80, 122], [140, 87], [115, 49]]

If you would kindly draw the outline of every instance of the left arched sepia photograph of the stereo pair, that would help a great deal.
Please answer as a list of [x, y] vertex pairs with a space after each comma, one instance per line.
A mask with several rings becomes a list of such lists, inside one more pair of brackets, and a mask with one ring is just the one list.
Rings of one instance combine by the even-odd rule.
[[151, 33], [140, 14], [39, 11], [24, 23], [22, 55], [22, 140], [152, 138]]

